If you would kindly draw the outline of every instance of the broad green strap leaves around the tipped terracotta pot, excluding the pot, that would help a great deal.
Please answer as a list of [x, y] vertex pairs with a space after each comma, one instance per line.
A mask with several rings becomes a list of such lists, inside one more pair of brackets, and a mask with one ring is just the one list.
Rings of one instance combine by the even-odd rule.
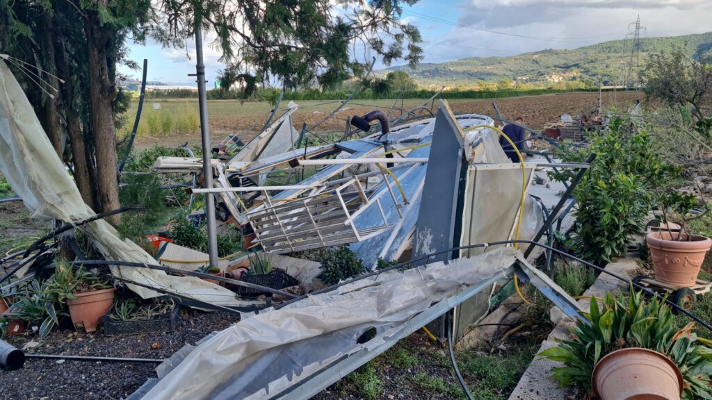
[[591, 299], [590, 323], [578, 320], [571, 340], [539, 355], [563, 362], [553, 369], [553, 378], [562, 386], [574, 384], [592, 392], [591, 375], [596, 363], [610, 352], [625, 347], [644, 347], [672, 359], [684, 378], [683, 399], [711, 399], [712, 349], [697, 340], [693, 323], [676, 330], [670, 307], [657, 298], [646, 301], [631, 287], [628, 299], [608, 293], [599, 308]]

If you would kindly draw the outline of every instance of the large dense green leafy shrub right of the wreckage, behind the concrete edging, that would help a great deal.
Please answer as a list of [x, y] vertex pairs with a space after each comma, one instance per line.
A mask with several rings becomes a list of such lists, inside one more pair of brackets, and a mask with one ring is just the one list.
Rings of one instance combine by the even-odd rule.
[[[644, 127], [622, 117], [613, 117], [609, 130], [589, 142], [587, 147], [565, 143], [555, 155], [562, 162], [585, 162], [597, 154], [574, 190], [576, 229], [567, 244], [582, 258], [604, 264], [627, 251], [629, 236], [642, 231], [648, 211], [656, 206], [653, 192], [669, 186], [680, 169], [661, 160]], [[567, 181], [574, 174], [550, 172], [550, 177]]]

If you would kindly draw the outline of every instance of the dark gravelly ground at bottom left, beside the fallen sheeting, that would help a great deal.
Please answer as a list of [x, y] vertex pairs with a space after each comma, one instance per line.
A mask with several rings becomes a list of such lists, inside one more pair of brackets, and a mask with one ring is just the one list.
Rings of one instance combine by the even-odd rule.
[[[185, 344], [195, 344], [214, 330], [223, 330], [239, 317], [229, 312], [188, 312], [171, 333], [105, 337], [95, 332], [56, 330], [36, 354], [164, 359]], [[15, 347], [36, 339], [26, 333], [9, 338]], [[153, 363], [27, 359], [16, 371], [0, 369], [3, 399], [125, 399], [147, 379], [155, 378]]]

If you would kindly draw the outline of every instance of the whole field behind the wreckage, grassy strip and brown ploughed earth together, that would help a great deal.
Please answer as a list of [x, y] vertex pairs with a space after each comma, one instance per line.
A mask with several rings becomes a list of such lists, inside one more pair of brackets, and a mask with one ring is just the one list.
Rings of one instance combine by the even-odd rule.
[[[579, 114], [581, 112], [594, 112], [597, 106], [597, 93], [561, 93], [556, 95], [542, 95], [522, 98], [504, 98], [496, 100], [468, 100], [451, 99], [448, 100], [451, 109], [456, 112], [473, 112], [477, 114], [495, 115], [492, 102], [495, 101], [507, 119], [523, 117], [526, 125], [534, 129], [541, 129], [545, 122], [556, 120], [561, 114]], [[618, 92], [616, 93], [616, 103], [619, 107], [629, 107], [636, 100], [642, 100], [644, 94], [641, 92]], [[421, 105], [425, 100], [407, 99], [399, 100], [397, 107], [407, 110], [417, 105]], [[152, 103], [160, 102], [160, 110], [153, 110]], [[186, 104], [188, 102], [188, 104]], [[339, 101], [300, 101], [300, 108], [293, 115], [293, 125], [297, 130], [301, 130], [303, 124], [315, 125], [332, 112]], [[613, 104], [613, 93], [603, 94], [603, 106], [608, 107]], [[185, 112], [184, 110], [196, 110], [197, 100], [148, 100], [145, 112]], [[316, 132], [342, 131], [345, 128], [346, 118], [351, 115], [363, 115], [372, 110], [389, 109], [394, 105], [394, 100], [355, 100], [343, 107], [340, 112], [320, 125]], [[437, 103], [436, 103], [437, 106]], [[282, 108], [286, 104], [282, 104]], [[173, 110], [175, 109], [175, 110]], [[208, 105], [211, 142], [214, 144], [221, 142], [229, 135], [236, 133], [243, 140], [249, 140], [256, 135], [266, 122], [271, 107], [267, 102], [239, 102], [233, 100], [214, 100]], [[278, 112], [281, 114], [283, 110]], [[130, 113], [132, 115], [132, 113]], [[398, 108], [392, 111], [392, 116], [399, 115]], [[184, 135], [160, 135], [145, 136], [137, 139], [137, 147], [150, 147], [154, 143], [165, 146], [177, 146], [184, 142], [190, 145], [200, 143], [199, 132], [192, 132]]]

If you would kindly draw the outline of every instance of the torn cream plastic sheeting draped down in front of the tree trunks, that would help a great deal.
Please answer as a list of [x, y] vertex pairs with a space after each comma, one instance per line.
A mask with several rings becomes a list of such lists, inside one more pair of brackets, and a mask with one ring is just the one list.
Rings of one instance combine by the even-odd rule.
[[[65, 166], [57, 156], [25, 93], [4, 61], [0, 60], [0, 172], [22, 198], [34, 218], [68, 223], [95, 216], [84, 204]], [[105, 221], [93, 221], [78, 230], [110, 260], [157, 265], [142, 248]], [[111, 272], [137, 283], [162, 288], [217, 305], [237, 305], [235, 294], [194, 277], [170, 276], [162, 271], [112, 266]], [[157, 297], [155, 290], [128, 287], [142, 298]]]

